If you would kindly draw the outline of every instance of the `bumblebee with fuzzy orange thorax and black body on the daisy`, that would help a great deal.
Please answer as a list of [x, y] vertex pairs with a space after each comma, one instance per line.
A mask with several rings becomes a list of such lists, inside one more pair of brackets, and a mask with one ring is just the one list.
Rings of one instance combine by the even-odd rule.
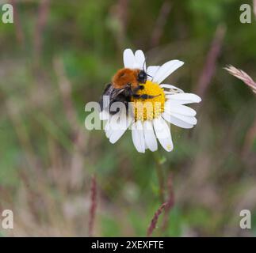
[[[110, 108], [115, 102], [124, 103], [128, 109], [128, 103], [131, 102], [132, 96], [142, 100], [150, 99], [155, 96], [147, 94], [137, 94], [139, 90], [144, 89], [144, 85], [149, 76], [145, 70], [124, 68], [118, 70], [113, 76], [112, 82], [105, 86], [105, 90], [101, 96], [101, 111]], [[103, 96], [109, 96], [109, 104], [104, 104]], [[109, 111], [110, 114], [116, 114], [117, 111]]]

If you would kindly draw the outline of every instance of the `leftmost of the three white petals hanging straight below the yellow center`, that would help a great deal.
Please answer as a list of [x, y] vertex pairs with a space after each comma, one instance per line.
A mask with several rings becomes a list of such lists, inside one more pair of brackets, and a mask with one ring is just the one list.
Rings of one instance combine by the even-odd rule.
[[143, 126], [140, 121], [132, 125], [132, 142], [139, 153], [145, 153]]

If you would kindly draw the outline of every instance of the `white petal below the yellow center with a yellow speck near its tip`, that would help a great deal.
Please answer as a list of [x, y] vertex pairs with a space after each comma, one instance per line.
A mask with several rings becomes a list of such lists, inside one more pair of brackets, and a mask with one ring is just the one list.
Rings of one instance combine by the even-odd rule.
[[170, 128], [162, 117], [153, 120], [156, 137], [160, 144], [166, 151], [170, 152], [174, 149], [173, 141], [171, 139]]

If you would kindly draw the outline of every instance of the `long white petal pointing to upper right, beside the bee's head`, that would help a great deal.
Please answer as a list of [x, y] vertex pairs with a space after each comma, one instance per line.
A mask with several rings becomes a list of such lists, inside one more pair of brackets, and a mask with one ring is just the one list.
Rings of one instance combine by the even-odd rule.
[[156, 72], [153, 81], [160, 84], [163, 80], [166, 79], [166, 77], [170, 76], [170, 74], [172, 74], [183, 64], [184, 62], [181, 62], [179, 60], [172, 60], [170, 62], [166, 62], [159, 67], [159, 70]]

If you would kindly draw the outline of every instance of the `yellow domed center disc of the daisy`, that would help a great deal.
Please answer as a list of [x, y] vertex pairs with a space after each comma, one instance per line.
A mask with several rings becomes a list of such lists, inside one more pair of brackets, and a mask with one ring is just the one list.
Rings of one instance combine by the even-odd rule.
[[163, 89], [152, 81], [147, 81], [143, 86], [144, 89], [140, 89], [136, 94], [150, 97], [137, 98], [132, 96], [133, 113], [136, 121], [158, 118], [164, 111], [166, 98]]

